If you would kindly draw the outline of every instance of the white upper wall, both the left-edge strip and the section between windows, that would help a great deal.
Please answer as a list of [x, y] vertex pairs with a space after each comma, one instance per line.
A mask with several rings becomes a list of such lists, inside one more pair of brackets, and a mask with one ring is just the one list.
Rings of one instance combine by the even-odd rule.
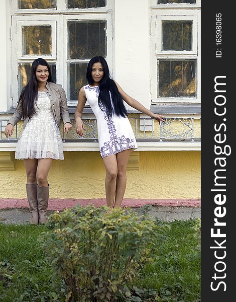
[[[150, 108], [149, 1], [113, 0], [113, 75], [123, 90]], [[0, 1], [0, 111], [11, 100], [10, 0]], [[13, 29], [14, 30], [14, 29]], [[6, 43], [4, 42], [6, 41]]]

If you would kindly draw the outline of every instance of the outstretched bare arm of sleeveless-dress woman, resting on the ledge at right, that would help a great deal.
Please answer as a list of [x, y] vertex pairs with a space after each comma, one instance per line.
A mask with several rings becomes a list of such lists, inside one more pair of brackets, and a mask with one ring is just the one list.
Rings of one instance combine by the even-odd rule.
[[[115, 82], [115, 81], [114, 81]], [[152, 111], [150, 111], [149, 109], [147, 109], [146, 107], [144, 107], [141, 103], [139, 103], [138, 101], [136, 101], [134, 98], [132, 98], [131, 96], [129, 96], [127, 93], [124, 92], [124, 90], [121, 88], [121, 86], [119, 84], [117, 84], [115, 82], [122, 99], [131, 107], [139, 110], [140, 112], [147, 114], [148, 116], [158, 120], [159, 122], [163, 120], [164, 116], [160, 115], [160, 114], [155, 114]]]

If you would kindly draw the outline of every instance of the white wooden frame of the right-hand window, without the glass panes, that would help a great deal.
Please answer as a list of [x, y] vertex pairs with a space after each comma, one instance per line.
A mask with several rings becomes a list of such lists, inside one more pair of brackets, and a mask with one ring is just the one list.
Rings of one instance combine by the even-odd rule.
[[[152, 5], [153, 4], [153, 5]], [[174, 9], [173, 9], [174, 8]], [[183, 9], [184, 8], [184, 9]], [[162, 50], [162, 20], [192, 20], [192, 51]], [[151, 99], [152, 104], [160, 103], [200, 103], [200, 1], [196, 4], [163, 4], [157, 5], [151, 0], [150, 16], [150, 70], [151, 70]], [[196, 97], [158, 98], [158, 60], [196, 60]]]

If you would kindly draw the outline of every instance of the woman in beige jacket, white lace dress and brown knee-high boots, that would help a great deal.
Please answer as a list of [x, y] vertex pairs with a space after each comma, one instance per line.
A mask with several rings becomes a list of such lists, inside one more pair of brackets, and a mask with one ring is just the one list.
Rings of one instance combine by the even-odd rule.
[[5, 128], [12, 135], [17, 122], [24, 119], [24, 129], [17, 142], [15, 158], [24, 160], [26, 192], [32, 218], [30, 223], [46, 222], [49, 184], [48, 173], [53, 159], [63, 160], [60, 120], [64, 131], [72, 129], [65, 91], [53, 83], [47, 61], [33, 61], [28, 84], [23, 88], [13, 117]]

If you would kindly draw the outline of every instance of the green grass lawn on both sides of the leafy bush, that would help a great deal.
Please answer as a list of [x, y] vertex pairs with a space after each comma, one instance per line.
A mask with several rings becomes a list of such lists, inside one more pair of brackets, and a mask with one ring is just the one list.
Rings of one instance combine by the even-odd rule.
[[[143, 265], [133, 285], [152, 288], [158, 302], [200, 301], [199, 238], [194, 220], [175, 220], [166, 240]], [[0, 301], [63, 301], [56, 294], [52, 267], [38, 241], [44, 225], [0, 224]], [[151, 301], [151, 300], [149, 300]]]

